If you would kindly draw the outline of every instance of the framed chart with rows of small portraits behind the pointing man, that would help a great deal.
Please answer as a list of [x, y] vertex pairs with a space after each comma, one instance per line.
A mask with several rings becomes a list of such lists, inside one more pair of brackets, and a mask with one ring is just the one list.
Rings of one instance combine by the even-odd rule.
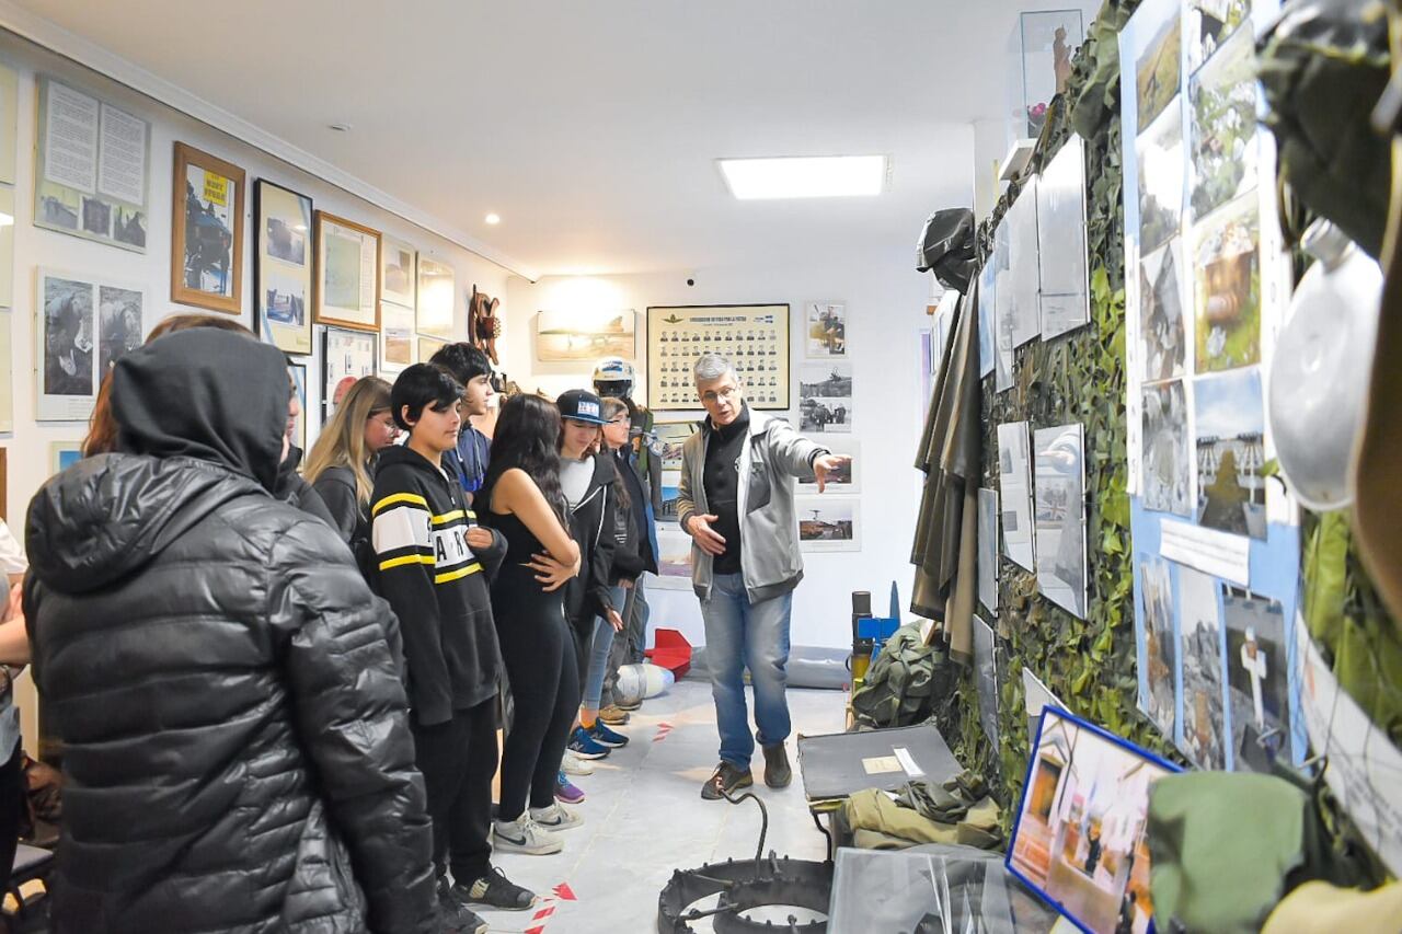
[[753, 408], [788, 410], [787, 304], [649, 307], [648, 405], [653, 411], [697, 408], [691, 367], [702, 353], [730, 360]]

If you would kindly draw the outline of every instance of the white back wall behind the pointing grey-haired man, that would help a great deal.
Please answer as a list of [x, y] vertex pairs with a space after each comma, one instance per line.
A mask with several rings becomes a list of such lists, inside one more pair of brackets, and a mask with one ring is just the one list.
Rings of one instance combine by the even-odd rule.
[[[914, 234], [917, 231], [911, 231]], [[911, 254], [914, 251], [911, 250]], [[687, 276], [695, 286], [687, 286]], [[892, 581], [910, 600], [910, 546], [920, 505], [920, 477], [913, 467], [923, 428], [918, 334], [930, 327], [925, 306], [931, 279], [917, 273], [914, 257], [852, 261], [843, 268], [700, 269], [670, 273], [554, 278], [531, 285], [513, 276], [506, 287], [508, 374], [530, 391], [550, 394], [587, 386], [593, 365], [538, 363], [531, 348], [531, 318], [537, 311], [594, 311], [632, 309], [638, 313], [639, 398], [645, 397], [646, 309], [667, 304], [788, 303], [791, 313], [789, 411], [798, 425], [798, 366], [802, 344], [798, 324], [805, 302], [845, 302], [847, 338], [854, 374], [855, 422], [861, 442], [859, 553], [806, 554], [805, 581], [794, 599], [794, 645], [843, 648], [851, 645], [851, 592], [871, 590], [885, 610]], [[665, 418], [679, 417], [666, 412]], [[695, 412], [700, 418], [702, 412]], [[816, 436], [820, 438], [820, 436]], [[651, 590], [653, 625], [681, 630], [694, 644], [705, 642], [697, 599], [690, 590]]]

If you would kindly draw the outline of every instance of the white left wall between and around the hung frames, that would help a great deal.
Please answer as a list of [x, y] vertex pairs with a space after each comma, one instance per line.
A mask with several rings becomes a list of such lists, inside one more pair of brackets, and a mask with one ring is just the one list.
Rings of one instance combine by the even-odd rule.
[[[24, 516], [29, 499], [49, 475], [49, 445], [52, 442], [81, 440], [87, 432], [84, 422], [36, 422], [34, 418], [35, 395], [35, 290], [36, 269], [53, 268], [122, 283], [137, 283], [146, 289], [146, 327], [150, 330], [160, 318], [181, 311], [202, 311], [177, 306], [170, 300], [170, 236], [171, 236], [171, 174], [174, 142], [189, 143], [196, 149], [229, 160], [247, 172], [248, 194], [244, 198], [244, 311], [240, 320], [252, 327], [252, 182], [268, 178], [280, 185], [310, 195], [315, 209], [329, 210], [343, 217], [379, 229], [418, 247], [423, 255], [447, 262], [457, 275], [457, 330], [465, 335], [465, 309], [463, 290], [477, 283], [478, 289], [494, 296], [502, 296], [506, 304], [506, 271], [475, 254], [463, 250], [447, 240], [428, 234], [421, 229], [373, 208], [353, 194], [325, 184], [306, 172], [287, 167], [261, 150], [231, 139], [164, 107], [139, 95], [86, 69], [41, 50], [29, 43], [0, 32], [0, 60], [20, 74], [18, 91], [18, 164], [15, 184], [15, 237], [14, 237], [14, 309], [6, 317], [11, 324], [13, 345], [13, 393], [14, 432], [0, 433], [0, 447], [8, 449], [7, 515], [8, 524], [22, 540]], [[105, 100], [122, 109], [144, 118], [151, 123], [150, 163], [147, 171], [149, 224], [146, 254], [128, 252], [116, 247], [42, 230], [31, 222], [34, 213], [34, 153], [36, 130], [35, 73], [49, 74], [60, 81]], [[0, 116], [3, 118], [3, 116]], [[3, 314], [3, 313], [0, 313]], [[320, 331], [320, 328], [318, 328]], [[300, 358], [307, 363], [308, 383], [308, 445], [320, 425], [321, 338], [314, 342], [311, 358]], [[25, 683], [28, 677], [25, 676]], [[35, 750], [35, 703], [28, 684], [20, 693], [25, 718], [25, 739]]]

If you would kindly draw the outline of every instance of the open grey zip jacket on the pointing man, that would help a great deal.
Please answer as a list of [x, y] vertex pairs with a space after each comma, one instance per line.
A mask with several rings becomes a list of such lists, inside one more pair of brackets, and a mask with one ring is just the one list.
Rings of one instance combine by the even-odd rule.
[[[700, 431], [681, 447], [681, 484], [677, 489], [677, 522], [707, 515], [705, 450], [711, 432]], [[788, 422], [750, 410], [749, 443], [740, 447], [740, 484], [736, 512], [740, 516], [740, 574], [750, 603], [782, 596], [803, 579], [798, 550], [798, 517], [794, 513], [794, 480], [813, 478], [813, 459], [830, 453], [794, 431]], [[702, 600], [711, 597], [712, 557], [691, 546], [691, 586]]]

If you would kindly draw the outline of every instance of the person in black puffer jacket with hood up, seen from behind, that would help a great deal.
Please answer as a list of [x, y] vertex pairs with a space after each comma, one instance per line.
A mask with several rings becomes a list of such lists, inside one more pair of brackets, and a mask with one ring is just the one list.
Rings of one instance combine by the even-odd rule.
[[286, 393], [268, 345], [153, 341], [114, 373], [118, 453], [29, 505], [56, 934], [440, 930], [393, 614], [271, 495]]

